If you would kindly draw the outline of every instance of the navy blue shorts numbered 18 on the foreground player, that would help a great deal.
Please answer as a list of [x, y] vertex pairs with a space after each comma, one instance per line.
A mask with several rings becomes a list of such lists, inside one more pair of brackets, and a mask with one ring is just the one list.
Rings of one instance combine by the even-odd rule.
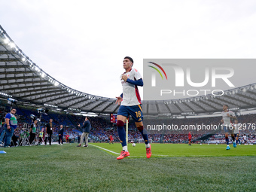
[[129, 117], [129, 114], [133, 117], [135, 122], [141, 122], [143, 120], [143, 113], [141, 105], [124, 106], [120, 105], [117, 115], [123, 115]]

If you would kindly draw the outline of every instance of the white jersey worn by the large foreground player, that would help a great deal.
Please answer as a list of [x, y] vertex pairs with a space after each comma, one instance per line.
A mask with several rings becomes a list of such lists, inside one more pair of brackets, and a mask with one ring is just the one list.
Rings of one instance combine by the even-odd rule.
[[[127, 77], [133, 81], [142, 78], [142, 75], [140, 75], [140, 73], [136, 69], [131, 69], [130, 72], [123, 74], [127, 75]], [[120, 80], [123, 86], [123, 101], [121, 102], [121, 105], [133, 106], [142, 104], [141, 97], [139, 96], [138, 87], [134, 84], [130, 84], [126, 81], [123, 81], [122, 75], [120, 76]]]

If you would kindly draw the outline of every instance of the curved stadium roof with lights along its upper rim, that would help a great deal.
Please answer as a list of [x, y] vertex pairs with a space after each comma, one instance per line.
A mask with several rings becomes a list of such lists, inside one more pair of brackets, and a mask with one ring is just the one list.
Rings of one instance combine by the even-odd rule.
[[[67, 111], [117, 113], [116, 99], [95, 96], [67, 87], [29, 59], [0, 26], [0, 99], [24, 105], [43, 105]], [[227, 104], [234, 110], [255, 109], [256, 84], [226, 90], [223, 96], [197, 96], [166, 101], [142, 101], [145, 115], [213, 114]]]

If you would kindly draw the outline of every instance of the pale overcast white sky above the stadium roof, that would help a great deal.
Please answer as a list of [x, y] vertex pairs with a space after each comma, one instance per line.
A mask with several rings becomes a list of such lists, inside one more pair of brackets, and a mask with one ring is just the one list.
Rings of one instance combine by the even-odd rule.
[[[0, 24], [44, 72], [115, 98], [123, 57], [255, 58], [255, 1], [0, 1]], [[139, 89], [143, 98], [142, 88]]]

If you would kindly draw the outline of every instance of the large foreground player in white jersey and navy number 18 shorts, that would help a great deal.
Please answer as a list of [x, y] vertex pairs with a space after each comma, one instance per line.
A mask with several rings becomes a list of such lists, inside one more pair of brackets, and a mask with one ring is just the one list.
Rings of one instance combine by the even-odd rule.
[[116, 103], [120, 105], [120, 108], [117, 111], [117, 131], [120, 142], [123, 146], [123, 151], [120, 156], [117, 157], [117, 160], [122, 160], [124, 157], [130, 156], [129, 151], [127, 150], [126, 134], [123, 127], [129, 115], [133, 117], [136, 122], [135, 124], [137, 129], [142, 134], [146, 145], [147, 157], [151, 157], [151, 145], [148, 143], [148, 133], [143, 127], [142, 103], [137, 87], [143, 86], [142, 75], [140, 75], [136, 69], [132, 69], [132, 67], [133, 59], [130, 56], [124, 57], [123, 69], [125, 69], [125, 72], [120, 76], [123, 93], [117, 97], [116, 101]]

